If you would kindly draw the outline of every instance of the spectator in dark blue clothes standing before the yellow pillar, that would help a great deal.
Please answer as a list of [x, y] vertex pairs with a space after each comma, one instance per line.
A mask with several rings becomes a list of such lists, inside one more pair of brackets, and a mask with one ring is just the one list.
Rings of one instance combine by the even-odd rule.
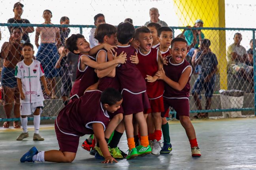
[[[192, 95], [198, 110], [202, 110], [199, 95], [203, 89], [205, 89], [205, 109], [208, 110], [211, 107], [218, 61], [216, 55], [209, 51], [210, 45], [211, 41], [209, 39], [202, 39], [200, 51], [197, 53], [195, 60], [195, 65], [201, 65], [198, 78], [192, 89]], [[198, 113], [194, 118], [208, 118], [208, 113]]]

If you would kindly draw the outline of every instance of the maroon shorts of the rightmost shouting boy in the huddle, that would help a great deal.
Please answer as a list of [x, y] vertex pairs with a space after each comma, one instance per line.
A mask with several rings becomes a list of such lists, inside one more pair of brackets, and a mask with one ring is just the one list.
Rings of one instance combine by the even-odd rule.
[[164, 112], [161, 116], [164, 117], [166, 111], [172, 107], [176, 112], [176, 118], [179, 120], [179, 116], [189, 116], [189, 100], [188, 99], [168, 99], [164, 98]]

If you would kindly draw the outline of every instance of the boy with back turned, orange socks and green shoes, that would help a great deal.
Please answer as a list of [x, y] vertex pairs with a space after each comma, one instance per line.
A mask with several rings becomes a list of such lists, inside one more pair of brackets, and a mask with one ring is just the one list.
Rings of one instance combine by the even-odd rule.
[[[151, 153], [147, 133], [147, 122], [143, 116], [143, 111], [150, 108], [149, 99], [146, 93], [146, 83], [138, 68], [130, 60], [137, 50], [129, 45], [134, 36], [135, 28], [130, 22], [120, 23], [117, 26], [117, 55], [121, 52], [127, 54], [127, 61], [124, 65], [117, 67], [117, 77], [120, 81], [121, 93], [124, 98], [122, 104], [124, 110], [124, 126], [128, 141], [129, 152], [127, 159], [132, 159], [137, 155]], [[135, 148], [133, 116], [139, 125], [141, 144]]]

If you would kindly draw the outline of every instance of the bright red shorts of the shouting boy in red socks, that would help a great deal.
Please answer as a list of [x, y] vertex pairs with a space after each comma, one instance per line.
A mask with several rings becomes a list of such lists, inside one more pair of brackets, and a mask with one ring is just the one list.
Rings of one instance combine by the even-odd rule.
[[164, 111], [164, 98], [163, 98], [163, 96], [161, 96], [160, 98], [156, 98], [156, 99], [149, 99], [149, 103], [150, 103], [151, 108], [144, 111], [144, 114]]

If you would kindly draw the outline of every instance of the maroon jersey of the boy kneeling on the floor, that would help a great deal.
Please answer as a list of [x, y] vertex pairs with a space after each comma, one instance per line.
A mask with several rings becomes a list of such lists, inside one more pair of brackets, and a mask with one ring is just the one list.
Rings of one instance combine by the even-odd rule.
[[87, 91], [79, 99], [68, 103], [58, 114], [56, 125], [62, 133], [73, 136], [93, 134], [92, 123], [101, 123], [105, 127], [109, 115], [100, 102], [102, 92]]

